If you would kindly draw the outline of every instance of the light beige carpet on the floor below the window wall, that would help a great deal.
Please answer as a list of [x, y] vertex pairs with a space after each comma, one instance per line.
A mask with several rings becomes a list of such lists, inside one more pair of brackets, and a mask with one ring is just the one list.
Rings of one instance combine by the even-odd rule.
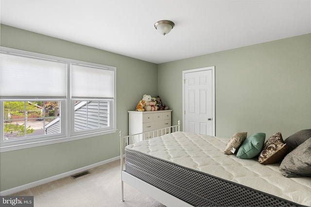
[[120, 160], [89, 172], [75, 179], [65, 177], [13, 195], [34, 196], [35, 207], [163, 207], [126, 183], [125, 201], [121, 202]]

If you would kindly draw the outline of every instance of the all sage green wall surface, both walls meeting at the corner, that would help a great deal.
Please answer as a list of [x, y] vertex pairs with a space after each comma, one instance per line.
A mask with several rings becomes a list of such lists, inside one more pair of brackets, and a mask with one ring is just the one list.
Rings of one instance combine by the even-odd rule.
[[[182, 121], [182, 71], [212, 65], [216, 136], [281, 131], [286, 138], [311, 128], [311, 34], [158, 65], [6, 25], [1, 46], [116, 66], [117, 127], [124, 133], [127, 111], [143, 94], [161, 96], [172, 123]], [[0, 153], [0, 191], [119, 156], [118, 132]]]

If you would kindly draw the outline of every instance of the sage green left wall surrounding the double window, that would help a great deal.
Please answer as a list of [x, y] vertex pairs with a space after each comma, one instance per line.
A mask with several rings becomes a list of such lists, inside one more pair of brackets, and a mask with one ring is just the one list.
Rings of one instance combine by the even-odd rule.
[[[128, 110], [157, 95], [157, 65], [1, 25], [1, 46], [117, 67], [117, 128], [128, 132]], [[152, 77], [145, 78], [142, 77]], [[141, 87], [141, 86], [144, 87]], [[0, 153], [0, 191], [120, 156], [114, 134]]]

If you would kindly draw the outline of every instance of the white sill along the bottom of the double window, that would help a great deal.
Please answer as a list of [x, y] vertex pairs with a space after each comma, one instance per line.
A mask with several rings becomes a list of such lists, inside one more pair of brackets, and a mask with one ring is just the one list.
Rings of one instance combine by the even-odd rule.
[[64, 137], [64, 138], [56, 138], [56, 139], [50, 139], [50, 140], [44, 140], [44, 141], [36, 141], [36, 142], [31, 142], [31, 143], [20, 143], [20, 144], [17, 143], [17, 144], [12, 144], [9, 146], [0, 146], [0, 152], [8, 152], [8, 151], [14, 151], [14, 150], [19, 150], [19, 149], [37, 147], [37, 146], [44, 146], [48, 144], [64, 143], [64, 142], [69, 142], [69, 141], [74, 141], [74, 140], [81, 140], [81, 139], [101, 136], [105, 134], [112, 134], [112, 133], [115, 133], [117, 130], [118, 129], [111, 129], [111, 130], [107, 130], [103, 132], [96, 132], [96, 133], [78, 135], [78, 136], [73, 136], [73, 137]]

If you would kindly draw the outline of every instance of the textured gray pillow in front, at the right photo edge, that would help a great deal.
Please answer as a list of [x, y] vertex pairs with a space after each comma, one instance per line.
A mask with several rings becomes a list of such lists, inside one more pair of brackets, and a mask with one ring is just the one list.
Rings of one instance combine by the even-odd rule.
[[285, 177], [311, 177], [311, 138], [286, 155], [279, 170]]

